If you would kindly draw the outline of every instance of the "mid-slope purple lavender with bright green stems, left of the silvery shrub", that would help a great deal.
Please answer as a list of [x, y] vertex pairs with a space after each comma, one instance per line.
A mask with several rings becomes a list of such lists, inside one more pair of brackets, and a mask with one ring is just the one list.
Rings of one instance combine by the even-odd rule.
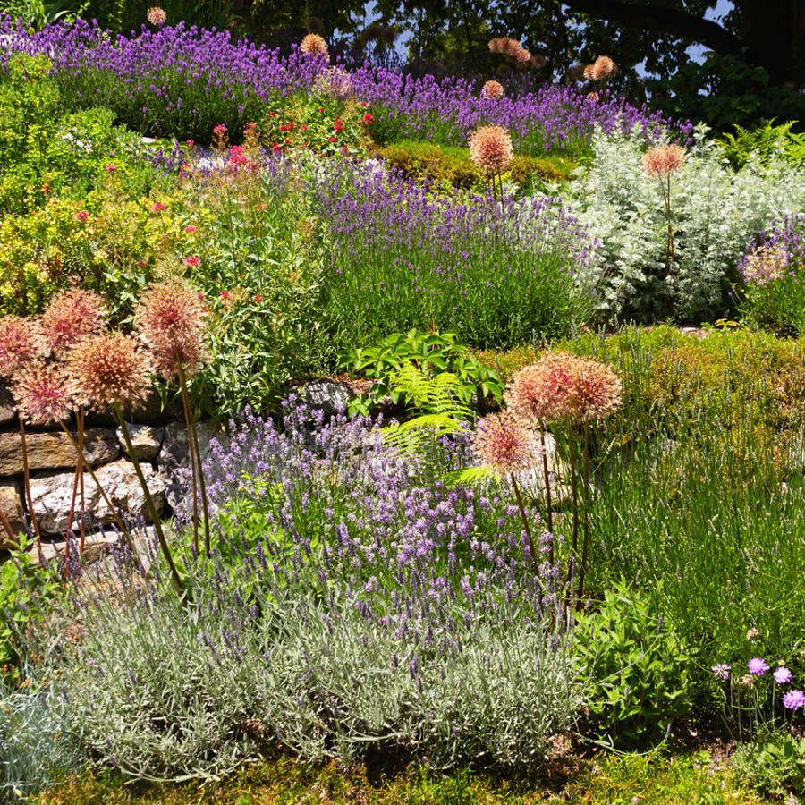
[[317, 183], [326, 318], [352, 345], [437, 326], [473, 346], [568, 335], [593, 307], [597, 243], [561, 199], [439, 196], [382, 171]]

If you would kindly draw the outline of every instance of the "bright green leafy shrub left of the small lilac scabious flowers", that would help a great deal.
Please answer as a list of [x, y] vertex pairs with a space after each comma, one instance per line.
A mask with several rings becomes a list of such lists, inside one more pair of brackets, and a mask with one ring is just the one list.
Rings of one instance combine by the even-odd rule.
[[[662, 585], [655, 589], [662, 597]], [[691, 657], [656, 599], [625, 581], [577, 616], [575, 641], [598, 737], [618, 746], [661, 741], [691, 705]]]

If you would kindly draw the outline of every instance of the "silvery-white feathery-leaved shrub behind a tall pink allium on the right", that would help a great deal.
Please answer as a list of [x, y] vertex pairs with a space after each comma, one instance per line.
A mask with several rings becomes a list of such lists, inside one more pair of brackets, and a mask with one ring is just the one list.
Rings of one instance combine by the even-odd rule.
[[[750, 238], [805, 209], [805, 172], [782, 157], [733, 171], [699, 126], [671, 175], [674, 260], [666, 272], [667, 221], [660, 181], [643, 169], [644, 140], [598, 131], [591, 164], [565, 201], [599, 240], [589, 279], [602, 316], [712, 320], [728, 307]], [[589, 270], [589, 269], [587, 269]]]

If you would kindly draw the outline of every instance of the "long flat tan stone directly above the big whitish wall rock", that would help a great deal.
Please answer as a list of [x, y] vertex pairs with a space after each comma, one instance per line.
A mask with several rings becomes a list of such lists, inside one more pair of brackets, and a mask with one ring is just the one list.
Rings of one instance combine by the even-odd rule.
[[[30, 470], [59, 470], [75, 466], [75, 450], [65, 433], [26, 433]], [[84, 432], [84, 455], [92, 466], [112, 462], [120, 455], [114, 430], [89, 428]], [[22, 472], [19, 433], [0, 433], [0, 476]]]

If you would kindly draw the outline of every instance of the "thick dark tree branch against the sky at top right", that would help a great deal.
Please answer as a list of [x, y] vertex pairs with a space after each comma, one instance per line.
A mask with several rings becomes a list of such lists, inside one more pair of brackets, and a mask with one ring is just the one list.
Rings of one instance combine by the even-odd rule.
[[573, 11], [590, 14], [628, 28], [653, 30], [692, 39], [718, 53], [737, 54], [741, 39], [717, 22], [659, 5], [632, 5], [623, 0], [563, 0]]

